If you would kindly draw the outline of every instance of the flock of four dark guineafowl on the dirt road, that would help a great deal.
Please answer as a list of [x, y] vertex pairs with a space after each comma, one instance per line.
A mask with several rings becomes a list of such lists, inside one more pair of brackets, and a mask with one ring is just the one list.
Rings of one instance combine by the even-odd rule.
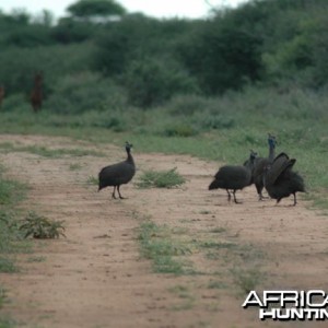
[[[236, 191], [255, 184], [259, 200], [263, 199], [263, 188], [266, 188], [270, 198], [277, 199], [277, 203], [282, 198], [294, 196], [296, 201], [296, 192], [305, 192], [304, 180], [302, 176], [293, 171], [296, 162], [290, 159], [285, 153], [276, 156], [276, 137], [268, 136], [269, 155], [268, 157], [259, 157], [256, 152], [250, 151], [249, 159], [243, 165], [224, 165], [216, 172], [213, 181], [209, 185], [209, 189], [225, 189], [227, 199], [231, 200], [233, 195], [234, 202]], [[112, 198], [116, 199], [116, 190], [118, 197], [124, 199], [119, 188], [121, 185], [128, 184], [136, 174], [136, 164], [131, 154], [132, 144], [126, 142], [127, 159], [120, 163], [105, 166], [98, 174], [98, 191], [105, 187], [114, 187]]]

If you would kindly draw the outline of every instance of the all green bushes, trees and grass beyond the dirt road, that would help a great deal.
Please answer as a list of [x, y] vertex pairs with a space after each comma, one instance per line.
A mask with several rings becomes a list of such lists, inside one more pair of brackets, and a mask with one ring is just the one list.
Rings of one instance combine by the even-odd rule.
[[[326, 0], [250, 0], [202, 20], [110, 0], [78, 1], [57, 22], [2, 13], [0, 129], [225, 163], [266, 156], [271, 132], [327, 206], [327, 30]], [[32, 114], [37, 71], [45, 97]]]

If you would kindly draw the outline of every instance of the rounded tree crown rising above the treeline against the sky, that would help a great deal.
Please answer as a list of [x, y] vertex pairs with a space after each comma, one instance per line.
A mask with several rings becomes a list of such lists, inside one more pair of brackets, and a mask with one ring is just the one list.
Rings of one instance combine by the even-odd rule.
[[72, 16], [85, 20], [92, 17], [121, 16], [127, 12], [126, 9], [115, 0], [80, 0], [68, 7], [67, 11]]

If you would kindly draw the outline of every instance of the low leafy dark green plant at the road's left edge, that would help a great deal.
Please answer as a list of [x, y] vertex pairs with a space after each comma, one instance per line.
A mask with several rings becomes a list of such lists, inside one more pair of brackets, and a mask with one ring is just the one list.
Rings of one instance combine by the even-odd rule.
[[65, 237], [62, 223], [63, 221], [52, 221], [30, 212], [23, 220], [20, 230], [25, 233], [25, 238], [28, 236], [39, 239], [59, 238], [60, 236]]

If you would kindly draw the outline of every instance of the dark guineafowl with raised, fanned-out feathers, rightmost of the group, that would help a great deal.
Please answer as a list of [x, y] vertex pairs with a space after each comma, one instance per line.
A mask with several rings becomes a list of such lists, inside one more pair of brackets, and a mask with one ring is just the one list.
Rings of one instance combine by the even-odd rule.
[[269, 196], [277, 199], [277, 203], [282, 198], [293, 195], [295, 206], [297, 203], [296, 192], [305, 192], [302, 176], [292, 171], [295, 163], [295, 159], [290, 160], [285, 153], [280, 153], [272, 164], [265, 167], [263, 184]]

